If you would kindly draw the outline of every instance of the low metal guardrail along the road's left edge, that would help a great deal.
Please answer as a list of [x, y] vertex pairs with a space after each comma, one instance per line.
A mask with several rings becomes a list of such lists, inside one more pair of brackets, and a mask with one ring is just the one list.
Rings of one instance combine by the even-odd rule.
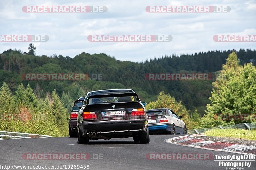
[[44, 138], [51, 137], [48, 135], [30, 134], [30, 133], [20, 133], [20, 132], [6, 132], [0, 131], [0, 139], [10, 139], [10, 138]]

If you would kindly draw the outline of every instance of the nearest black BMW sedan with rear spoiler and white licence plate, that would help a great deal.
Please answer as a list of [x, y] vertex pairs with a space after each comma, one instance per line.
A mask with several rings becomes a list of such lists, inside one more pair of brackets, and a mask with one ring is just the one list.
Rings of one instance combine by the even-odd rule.
[[77, 115], [78, 142], [133, 137], [149, 143], [145, 106], [131, 89], [88, 92]]

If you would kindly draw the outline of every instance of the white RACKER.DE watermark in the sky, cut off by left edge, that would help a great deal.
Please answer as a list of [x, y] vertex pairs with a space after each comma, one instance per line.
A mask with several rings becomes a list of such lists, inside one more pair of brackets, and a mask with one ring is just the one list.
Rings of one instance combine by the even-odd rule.
[[46, 42], [48, 35], [0, 35], [0, 42]]

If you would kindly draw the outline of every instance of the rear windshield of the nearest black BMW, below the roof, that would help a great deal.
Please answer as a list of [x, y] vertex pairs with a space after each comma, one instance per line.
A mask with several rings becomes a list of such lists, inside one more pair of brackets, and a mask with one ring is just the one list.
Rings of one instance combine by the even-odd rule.
[[138, 102], [136, 96], [90, 98], [88, 104], [113, 103], [113, 102]]

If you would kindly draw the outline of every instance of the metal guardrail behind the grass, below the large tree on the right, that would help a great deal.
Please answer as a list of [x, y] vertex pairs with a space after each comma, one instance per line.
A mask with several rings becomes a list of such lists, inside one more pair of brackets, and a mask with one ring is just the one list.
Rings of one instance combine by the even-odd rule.
[[193, 129], [193, 130], [188, 130], [188, 134], [199, 134], [199, 133], [204, 133], [210, 129], [227, 129], [227, 128], [248, 129], [248, 130], [256, 129], [256, 122], [241, 123], [241, 124], [228, 125], [228, 126], [218, 126], [213, 128]]

